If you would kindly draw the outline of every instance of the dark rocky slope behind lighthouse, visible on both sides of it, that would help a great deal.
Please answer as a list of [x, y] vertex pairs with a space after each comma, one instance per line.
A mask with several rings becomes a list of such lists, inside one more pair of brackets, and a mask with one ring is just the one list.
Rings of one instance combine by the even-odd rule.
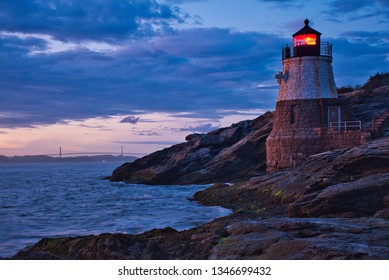
[[[389, 85], [343, 93], [340, 99], [347, 113], [370, 131], [374, 120], [389, 112]], [[389, 134], [387, 117], [375, 127], [374, 135]], [[184, 143], [120, 166], [109, 179], [153, 185], [202, 184], [243, 181], [265, 174], [265, 144], [272, 125], [273, 113], [268, 112], [207, 134], [191, 134]]]

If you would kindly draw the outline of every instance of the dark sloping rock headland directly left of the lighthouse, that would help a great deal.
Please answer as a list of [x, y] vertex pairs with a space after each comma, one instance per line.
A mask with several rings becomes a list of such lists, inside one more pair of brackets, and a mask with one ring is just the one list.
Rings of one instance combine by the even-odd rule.
[[199, 184], [248, 179], [265, 173], [265, 141], [272, 113], [207, 134], [126, 163], [108, 179], [152, 185]]

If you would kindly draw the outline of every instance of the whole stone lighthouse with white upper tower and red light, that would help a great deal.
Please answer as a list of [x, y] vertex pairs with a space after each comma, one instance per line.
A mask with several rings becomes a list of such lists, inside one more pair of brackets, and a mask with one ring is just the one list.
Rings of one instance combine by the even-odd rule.
[[[266, 140], [267, 170], [294, 166], [310, 155], [356, 146], [359, 121], [338, 99], [332, 71], [332, 45], [305, 26], [293, 34], [292, 46], [282, 48], [282, 72], [273, 130]], [[345, 110], [346, 109], [346, 110]]]

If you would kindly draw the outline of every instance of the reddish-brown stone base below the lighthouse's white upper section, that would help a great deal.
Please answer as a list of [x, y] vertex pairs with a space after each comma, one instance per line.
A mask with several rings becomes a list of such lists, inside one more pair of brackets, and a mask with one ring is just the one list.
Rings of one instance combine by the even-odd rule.
[[360, 130], [328, 128], [330, 107], [340, 108], [336, 122], [355, 120], [345, 105], [337, 98], [278, 101], [273, 130], [266, 140], [267, 170], [295, 166], [310, 155], [363, 143], [366, 136]]

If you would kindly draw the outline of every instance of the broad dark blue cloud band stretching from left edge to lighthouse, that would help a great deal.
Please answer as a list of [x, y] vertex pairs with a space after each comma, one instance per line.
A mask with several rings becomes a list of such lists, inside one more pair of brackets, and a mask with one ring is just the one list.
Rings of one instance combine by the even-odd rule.
[[77, 48], [31, 55], [34, 44], [42, 41], [0, 37], [1, 106], [19, 114], [1, 127], [136, 111], [215, 115], [215, 108], [271, 107], [274, 97], [259, 97], [253, 85], [272, 79], [268, 68], [278, 64], [281, 45], [276, 36], [217, 28], [132, 40], [105, 53]]

